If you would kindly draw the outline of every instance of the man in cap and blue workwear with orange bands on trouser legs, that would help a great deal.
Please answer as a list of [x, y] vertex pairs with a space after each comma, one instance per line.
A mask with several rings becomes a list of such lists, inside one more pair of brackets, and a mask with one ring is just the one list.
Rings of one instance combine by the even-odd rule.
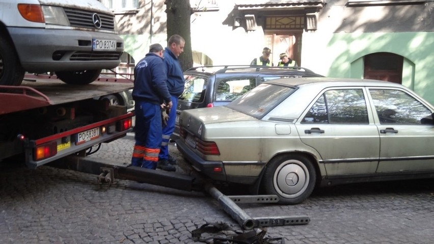
[[134, 68], [135, 145], [131, 165], [156, 169], [161, 146], [161, 104], [172, 107], [166, 85], [164, 50], [160, 44], [149, 46], [149, 53]]

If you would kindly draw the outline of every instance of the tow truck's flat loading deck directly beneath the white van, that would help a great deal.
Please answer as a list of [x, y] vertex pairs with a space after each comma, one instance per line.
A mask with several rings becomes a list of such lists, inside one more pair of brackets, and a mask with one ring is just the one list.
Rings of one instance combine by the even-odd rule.
[[69, 85], [56, 79], [25, 79], [21, 86], [0, 86], [0, 115], [100, 97], [133, 88], [132, 83]]

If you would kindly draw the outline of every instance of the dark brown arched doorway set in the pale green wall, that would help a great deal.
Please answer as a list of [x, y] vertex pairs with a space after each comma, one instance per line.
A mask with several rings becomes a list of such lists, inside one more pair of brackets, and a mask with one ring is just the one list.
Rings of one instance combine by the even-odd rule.
[[404, 58], [391, 52], [375, 52], [364, 57], [365, 79], [379, 79], [402, 84]]

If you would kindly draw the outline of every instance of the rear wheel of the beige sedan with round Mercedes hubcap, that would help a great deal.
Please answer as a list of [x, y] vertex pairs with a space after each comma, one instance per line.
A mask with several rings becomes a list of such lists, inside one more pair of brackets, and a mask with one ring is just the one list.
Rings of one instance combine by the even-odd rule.
[[268, 162], [262, 178], [266, 194], [278, 195], [280, 204], [298, 204], [313, 191], [316, 172], [302, 155], [280, 155]]

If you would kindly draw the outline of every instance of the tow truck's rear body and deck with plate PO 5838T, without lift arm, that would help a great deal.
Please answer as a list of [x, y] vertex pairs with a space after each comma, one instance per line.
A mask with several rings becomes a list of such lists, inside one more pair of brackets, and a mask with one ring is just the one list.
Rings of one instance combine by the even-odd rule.
[[23, 159], [32, 169], [132, 131], [125, 106], [94, 99], [131, 89], [130, 83], [69, 85], [59, 79], [26, 78], [0, 86], [0, 161]]

